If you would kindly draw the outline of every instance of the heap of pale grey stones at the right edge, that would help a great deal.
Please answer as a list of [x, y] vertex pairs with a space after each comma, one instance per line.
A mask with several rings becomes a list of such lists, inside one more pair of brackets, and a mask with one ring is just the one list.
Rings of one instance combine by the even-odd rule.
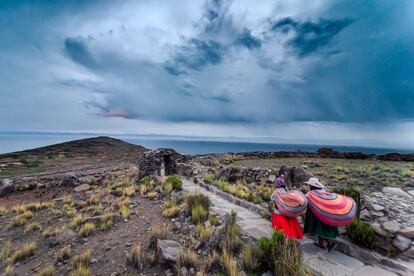
[[384, 187], [371, 193], [360, 217], [373, 226], [376, 247], [414, 259], [414, 190]]

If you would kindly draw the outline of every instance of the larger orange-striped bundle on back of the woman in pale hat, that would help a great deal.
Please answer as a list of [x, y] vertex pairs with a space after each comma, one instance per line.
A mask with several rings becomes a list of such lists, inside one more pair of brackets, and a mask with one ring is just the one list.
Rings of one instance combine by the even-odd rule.
[[324, 190], [310, 191], [306, 197], [312, 213], [327, 225], [346, 226], [355, 218], [356, 204], [350, 197]]

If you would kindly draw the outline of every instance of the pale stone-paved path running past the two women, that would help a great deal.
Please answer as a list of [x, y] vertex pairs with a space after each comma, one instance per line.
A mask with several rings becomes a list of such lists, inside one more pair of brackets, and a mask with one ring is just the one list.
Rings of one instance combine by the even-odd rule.
[[[184, 180], [184, 191], [199, 192], [207, 195], [212, 202], [212, 210], [219, 216], [231, 211], [237, 212], [237, 223], [240, 225], [242, 233], [256, 239], [262, 236], [270, 236], [272, 225], [268, 220], [263, 219], [257, 213], [246, 208], [231, 203], [224, 198], [207, 191], [206, 189], [194, 184], [192, 181]], [[347, 256], [338, 251], [327, 252], [313, 244], [313, 241], [304, 238], [301, 241], [305, 262], [319, 275], [326, 276], [392, 276], [398, 275], [394, 272], [385, 270], [379, 266], [364, 264], [361, 260]], [[411, 272], [404, 272], [400, 275], [414, 275]]]

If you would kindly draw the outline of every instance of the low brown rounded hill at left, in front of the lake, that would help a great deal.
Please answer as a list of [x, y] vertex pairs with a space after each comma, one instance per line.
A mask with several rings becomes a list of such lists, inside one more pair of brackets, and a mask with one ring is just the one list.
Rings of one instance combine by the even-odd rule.
[[42, 172], [75, 171], [136, 160], [146, 148], [110, 137], [75, 140], [0, 155], [0, 178]]

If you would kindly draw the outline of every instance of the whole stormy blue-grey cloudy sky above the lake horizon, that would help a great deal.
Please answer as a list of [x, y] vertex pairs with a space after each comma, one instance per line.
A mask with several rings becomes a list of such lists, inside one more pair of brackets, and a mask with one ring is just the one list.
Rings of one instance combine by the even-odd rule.
[[0, 1], [0, 131], [414, 148], [414, 1]]

